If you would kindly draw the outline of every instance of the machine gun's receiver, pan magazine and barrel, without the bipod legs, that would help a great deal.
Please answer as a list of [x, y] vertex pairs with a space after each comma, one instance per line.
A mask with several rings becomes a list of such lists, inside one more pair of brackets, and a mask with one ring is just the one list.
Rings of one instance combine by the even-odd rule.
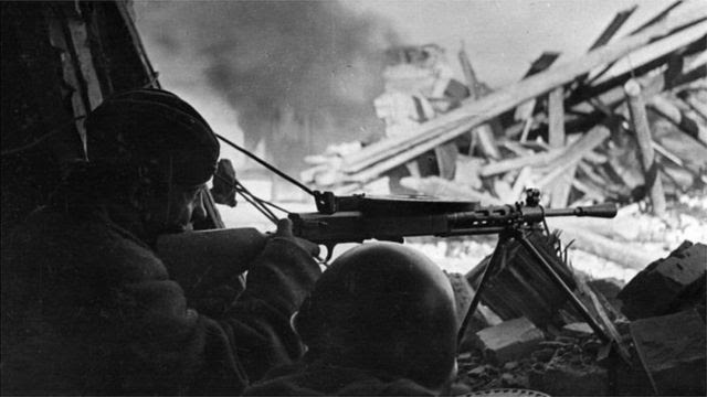
[[551, 216], [611, 218], [614, 204], [574, 208], [544, 208], [539, 192], [529, 190], [525, 203], [481, 206], [476, 202], [424, 197], [339, 197], [316, 193], [317, 212], [291, 214], [294, 234], [327, 247], [330, 256], [340, 243], [367, 239], [402, 242], [412, 236], [468, 236], [499, 234], [509, 228], [531, 227]]

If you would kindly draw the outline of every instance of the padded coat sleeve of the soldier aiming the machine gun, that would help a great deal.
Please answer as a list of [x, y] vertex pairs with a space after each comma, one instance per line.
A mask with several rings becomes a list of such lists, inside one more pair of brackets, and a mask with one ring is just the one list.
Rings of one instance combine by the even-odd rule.
[[124, 362], [134, 365], [125, 368], [125, 391], [239, 394], [268, 369], [297, 360], [302, 347], [289, 318], [319, 273], [304, 249], [272, 238], [250, 267], [245, 291], [218, 319], [189, 309], [171, 280], [126, 285], [139, 315], [130, 322]]

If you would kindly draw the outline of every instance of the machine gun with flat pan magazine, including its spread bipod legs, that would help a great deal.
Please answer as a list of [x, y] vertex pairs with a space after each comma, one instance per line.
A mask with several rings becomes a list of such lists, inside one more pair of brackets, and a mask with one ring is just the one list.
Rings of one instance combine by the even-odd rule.
[[525, 202], [510, 205], [482, 206], [475, 202], [424, 200], [420, 197], [377, 198], [365, 195], [338, 197], [331, 193], [315, 193], [316, 213], [289, 214], [296, 236], [327, 247], [330, 257], [340, 243], [361, 243], [366, 239], [402, 242], [411, 236], [469, 236], [498, 234], [498, 244], [484, 269], [476, 293], [458, 331], [461, 342], [466, 325], [478, 305], [482, 292], [495, 268], [504, 266], [503, 251], [510, 240], [517, 240], [538, 261], [546, 275], [562, 290], [569, 302], [604, 342], [614, 342], [619, 353], [629, 353], [619, 343], [611, 324], [602, 328], [564, 280], [527, 238], [534, 229], [547, 230], [546, 217], [591, 216], [612, 218], [614, 204], [604, 203], [572, 208], [545, 208], [540, 192], [526, 191]]

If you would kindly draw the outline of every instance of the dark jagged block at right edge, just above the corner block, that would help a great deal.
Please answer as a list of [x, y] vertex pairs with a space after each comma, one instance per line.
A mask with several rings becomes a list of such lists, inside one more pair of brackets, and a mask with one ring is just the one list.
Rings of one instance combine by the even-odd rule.
[[619, 293], [631, 320], [675, 313], [704, 300], [707, 246], [683, 243], [665, 259], [648, 265]]

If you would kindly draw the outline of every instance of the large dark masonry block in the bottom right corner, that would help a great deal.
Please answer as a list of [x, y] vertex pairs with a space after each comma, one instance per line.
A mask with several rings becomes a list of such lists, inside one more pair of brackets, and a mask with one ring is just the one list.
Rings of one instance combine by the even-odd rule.
[[659, 395], [706, 395], [705, 332], [694, 310], [631, 323], [636, 352]]

